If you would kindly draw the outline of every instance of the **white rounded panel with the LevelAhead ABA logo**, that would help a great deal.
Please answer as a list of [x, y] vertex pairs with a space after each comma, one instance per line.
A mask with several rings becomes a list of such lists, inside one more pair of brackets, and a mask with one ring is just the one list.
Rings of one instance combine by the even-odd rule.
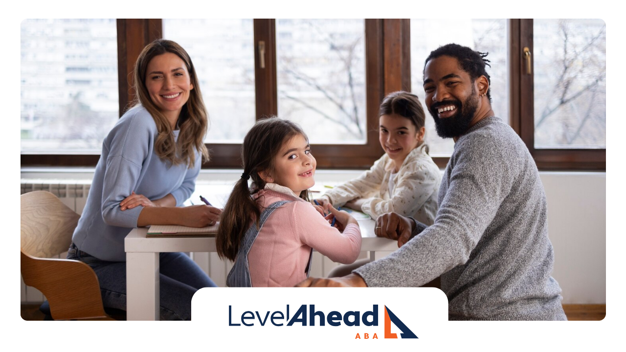
[[208, 328], [207, 337], [243, 344], [414, 344], [440, 336], [447, 320], [448, 299], [431, 287], [224, 287], [192, 300], [192, 321]]

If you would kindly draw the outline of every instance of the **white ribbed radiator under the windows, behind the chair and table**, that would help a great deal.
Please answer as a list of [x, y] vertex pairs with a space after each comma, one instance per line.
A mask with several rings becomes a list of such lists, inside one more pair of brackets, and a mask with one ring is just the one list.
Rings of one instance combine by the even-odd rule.
[[[203, 185], [203, 187], [211, 187], [215, 182], [197, 182], [197, 185]], [[223, 184], [223, 182], [219, 183]], [[83, 213], [85, 207], [87, 195], [91, 180], [36, 180], [36, 179], [22, 179], [21, 180], [21, 193], [33, 192], [35, 190], [47, 190], [56, 195], [63, 204], [67, 205], [69, 209], [74, 210], [78, 214]], [[202, 268], [204, 272], [211, 277], [213, 282], [217, 286], [226, 286], [226, 277], [228, 272], [232, 268], [230, 261], [223, 261], [217, 256], [217, 253], [207, 252], [192, 252], [189, 256], [195, 261], [198, 266]], [[66, 253], [59, 255], [58, 257], [64, 259]], [[362, 252], [359, 258], [366, 258], [367, 252]], [[331, 261], [327, 257], [322, 256], [319, 252], [313, 253], [313, 261], [311, 263], [310, 276], [314, 277], [326, 277], [328, 273], [336, 267], [337, 263]], [[20, 275], [21, 279], [21, 275]], [[42, 303], [45, 298], [38, 289], [34, 287], [26, 286], [21, 279], [21, 303]]]

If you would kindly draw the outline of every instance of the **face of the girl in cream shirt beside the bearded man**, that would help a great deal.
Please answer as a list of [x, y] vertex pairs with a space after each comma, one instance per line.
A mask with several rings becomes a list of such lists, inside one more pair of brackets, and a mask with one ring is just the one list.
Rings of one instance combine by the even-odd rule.
[[417, 127], [406, 117], [398, 114], [381, 115], [378, 139], [381, 147], [396, 164], [396, 171], [404, 158], [424, 140], [424, 127]]

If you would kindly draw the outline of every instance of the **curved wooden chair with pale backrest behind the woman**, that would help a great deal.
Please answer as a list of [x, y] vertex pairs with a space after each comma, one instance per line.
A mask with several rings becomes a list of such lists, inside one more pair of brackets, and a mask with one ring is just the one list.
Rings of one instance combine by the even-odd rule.
[[54, 320], [111, 319], [96, 273], [87, 264], [53, 256], [66, 252], [80, 215], [43, 190], [20, 197], [21, 272], [24, 283], [48, 299]]

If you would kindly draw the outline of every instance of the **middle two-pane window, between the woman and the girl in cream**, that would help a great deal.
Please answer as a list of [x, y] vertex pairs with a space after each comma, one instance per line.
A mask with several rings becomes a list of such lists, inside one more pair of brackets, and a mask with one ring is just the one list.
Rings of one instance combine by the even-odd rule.
[[[382, 74], [381, 47], [374, 44], [381, 24], [362, 19], [164, 20], [164, 38], [178, 41], [197, 66], [212, 122], [207, 137], [212, 160], [205, 167], [240, 167], [245, 133], [256, 119], [269, 115], [302, 125], [319, 167], [371, 165], [382, 155], [372, 124], [382, 92], [375, 85], [367, 91], [365, 82], [368, 74], [374, 82]], [[319, 123], [324, 118], [334, 123]]]

